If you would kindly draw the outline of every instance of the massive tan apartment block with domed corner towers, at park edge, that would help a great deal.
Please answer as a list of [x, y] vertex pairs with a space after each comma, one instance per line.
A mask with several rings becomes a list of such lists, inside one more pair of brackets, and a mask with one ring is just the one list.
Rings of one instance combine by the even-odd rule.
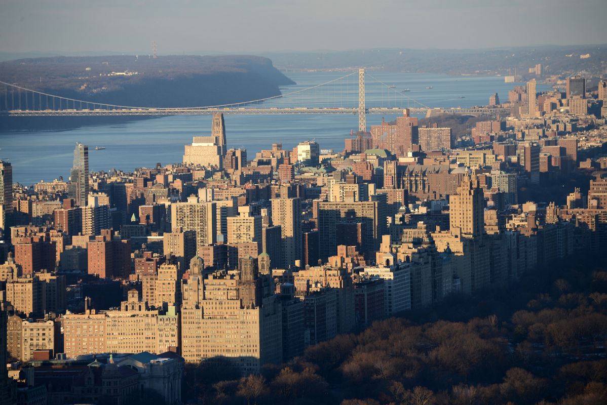
[[[194, 256], [189, 278], [183, 282], [181, 356], [188, 363], [205, 360], [243, 373], [280, 363], [282, 310], [278, 296], [257, 292], [261, 283], [254, 269], [215, 272], [203, 278], [204, 266], [202, 258]], [[260, 300], [254, 298], [257, 296]]]

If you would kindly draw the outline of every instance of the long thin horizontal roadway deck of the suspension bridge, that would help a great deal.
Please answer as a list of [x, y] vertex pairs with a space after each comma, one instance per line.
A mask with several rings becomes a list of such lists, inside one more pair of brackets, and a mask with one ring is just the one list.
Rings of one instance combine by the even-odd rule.
[[[367, 114], [400, 114], [403, 108], [369, 108]], [[215, 112], [224, 114], [255, 115], [255, 114], [358, 114], [358, 108], [341, 107], [315, 107], [315, 108], [175, 108], [175, 109], [95, 109], [95, 110], [5, 110], [0, 116], [169, 116], [169, 115], [211, 115]], [[490, 107], [452, 108], [452, 109], [426, 109], [410, 108], [412, 114], [426, 114], [426, 116], [451, 113], [469, 115], [495, 115], [507, 114], [508, 109]]]

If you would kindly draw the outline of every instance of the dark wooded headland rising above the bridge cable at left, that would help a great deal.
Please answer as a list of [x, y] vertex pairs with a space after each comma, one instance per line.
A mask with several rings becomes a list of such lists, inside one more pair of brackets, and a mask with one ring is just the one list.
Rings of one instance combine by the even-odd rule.
[[[193, 107], [280, 94], [293, 84], [259, 56], [86, 56], [0, 63], [0, 80], [91, 102]], [[0, 95], [4, 93], [1, 86]]]

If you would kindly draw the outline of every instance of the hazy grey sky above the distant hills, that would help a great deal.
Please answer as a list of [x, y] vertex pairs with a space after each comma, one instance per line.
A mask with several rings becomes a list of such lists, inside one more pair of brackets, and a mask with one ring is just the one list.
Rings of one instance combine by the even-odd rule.
[[607, 0], [0, 0], [0, 52], [267, 53], [607, 42]]

